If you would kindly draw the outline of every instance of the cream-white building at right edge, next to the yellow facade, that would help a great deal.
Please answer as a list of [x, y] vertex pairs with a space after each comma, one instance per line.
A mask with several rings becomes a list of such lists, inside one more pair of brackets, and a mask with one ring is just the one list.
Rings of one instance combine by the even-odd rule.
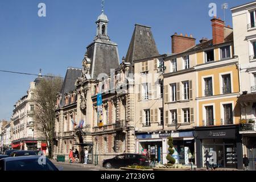
[[250, 159], [249, 169], [255, 170], [256, 154], [256, 2], [232, 9], [234, 54], [240, 69], [241, 127], [243, 154]]

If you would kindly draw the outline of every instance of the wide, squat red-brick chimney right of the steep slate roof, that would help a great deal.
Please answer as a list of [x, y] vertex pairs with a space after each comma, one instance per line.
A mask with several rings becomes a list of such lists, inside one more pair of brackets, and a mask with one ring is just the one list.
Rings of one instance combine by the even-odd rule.
[[175, 33], [171, 36], [172, 38], [172, 53], [180, 53], [183, 52], [189, 48], [192, 48], [193, 46], [196, 46], [196, 39], [193, 38], [192, 35], [188, 36], [185, 34], [177, 35]]

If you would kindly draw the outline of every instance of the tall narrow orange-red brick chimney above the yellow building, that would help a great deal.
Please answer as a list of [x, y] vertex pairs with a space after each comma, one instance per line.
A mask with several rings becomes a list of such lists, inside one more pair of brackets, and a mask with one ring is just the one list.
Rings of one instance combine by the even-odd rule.
[[214, 16], [213, 19], [211, 19], [212, 22], [212, 39], [213, 39], [213, 45], [220, 44], [224, 42], [224, 27], [225, 23], [220, 18], [216, 18]]

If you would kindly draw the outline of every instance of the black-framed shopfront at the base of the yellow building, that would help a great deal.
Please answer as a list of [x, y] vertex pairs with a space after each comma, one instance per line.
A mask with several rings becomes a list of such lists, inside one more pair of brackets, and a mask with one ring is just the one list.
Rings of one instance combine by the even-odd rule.
[[220, 168], [242, 169], [242, 137], [238, 125], [195, 127], [196, 165], [206, 167], [205, 152], [209, 163]]

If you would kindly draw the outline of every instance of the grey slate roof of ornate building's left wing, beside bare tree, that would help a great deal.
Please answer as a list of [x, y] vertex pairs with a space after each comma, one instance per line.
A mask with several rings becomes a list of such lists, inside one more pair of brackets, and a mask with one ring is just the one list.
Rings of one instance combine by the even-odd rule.
[[60, 90], [60, 93], [63, 96], [60, 101], [61, 106], [65, 105], [65, 97], [64, 97], [65, 94], [76, 89], [76, 87], [75, 87], [76, 79], [78, 77], [81, 77], [81, 75], [82, 75], [82, 69], [79, 69], [79, 68], [68, 68], [67, 69], [67, 73], [64, 78], [61, 90]]

